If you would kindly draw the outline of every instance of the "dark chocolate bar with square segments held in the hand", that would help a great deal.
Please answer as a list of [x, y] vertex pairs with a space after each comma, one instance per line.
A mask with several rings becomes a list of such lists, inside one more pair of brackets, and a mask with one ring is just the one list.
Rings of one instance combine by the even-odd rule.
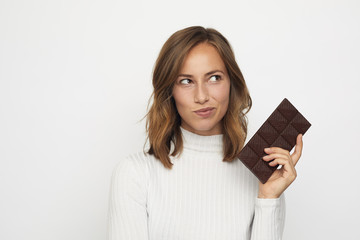
[[238, 158], [260, 182], [266, 183], [279, 165], [270, 166], [269, 162], [262, 159], [268, 155], [264, 148], [280, 147], [290, 152], [296, 144], [298, 134], [304, 135], [310, 126], [305, 117], [284, 98], [243, 147]]

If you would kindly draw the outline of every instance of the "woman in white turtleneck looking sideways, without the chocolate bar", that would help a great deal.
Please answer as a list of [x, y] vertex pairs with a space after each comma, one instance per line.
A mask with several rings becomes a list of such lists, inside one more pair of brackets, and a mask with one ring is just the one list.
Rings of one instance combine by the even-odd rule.
[[153, 86], [150, 148], [114, 170], [108, 239], [281, 239], [302, 136], [292, 155], [265, 150], [282, 165], [266, 184], [238, 160], [251, 98], [228, 41], [211, 28], [175, 32]]

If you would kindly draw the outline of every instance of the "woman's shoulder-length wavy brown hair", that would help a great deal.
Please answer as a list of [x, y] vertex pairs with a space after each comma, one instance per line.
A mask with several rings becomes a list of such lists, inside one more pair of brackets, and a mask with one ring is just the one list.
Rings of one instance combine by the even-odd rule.
[[213, 28], [192, 26], [179, 30], [165, 42], [156, 60], [152, 78], [154, 90], [147, 109], [152, 97], [153, 104], [144, 116], [150, 144], [147, 153], [153, 154], [169, 169], [173, 165], [169, 157], [171, 142], [174, 143], [171, 156], [181, 154], [183, 150], [181, 117], [172, 89], [189, 51], [204, 42], [217, 49], [230, 78], [229, 105], [222, 119], [223, 161], [231, 162], [239, 155], [247, 136], [246, 113], [251, 109], [252, 100], [229, 42]]

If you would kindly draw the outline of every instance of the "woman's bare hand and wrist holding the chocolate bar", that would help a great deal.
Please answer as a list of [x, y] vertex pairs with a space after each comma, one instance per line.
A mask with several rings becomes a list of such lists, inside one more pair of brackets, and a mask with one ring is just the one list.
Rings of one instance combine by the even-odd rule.
[[295, 180], [295, 165], [299, 161], [303, 148], [302, 134], [296, 138], [295, 151], [290, 155], [289, 151], [279, 148], [270, 147], [265, 152], [268, 154], [263, 157], [264, 161], [270, 162], [270, 166], [282, 165], [280, 169], [275, 170], [269, 180], [263, 184], [259, 182], [258, 198], [278, 198], [287, 187]]

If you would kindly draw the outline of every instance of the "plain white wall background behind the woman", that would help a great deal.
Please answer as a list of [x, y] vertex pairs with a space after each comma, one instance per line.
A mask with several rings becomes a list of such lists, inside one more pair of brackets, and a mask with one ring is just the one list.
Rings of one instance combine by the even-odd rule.
[[356, 0], [1, 0], [0, 239], [105, 239], [111, 172], [143, 148], [157, 54], [192, 25], [232, 44], [249, 137], [284, 97], [312, 123], [284, 239], [360, 239]]

